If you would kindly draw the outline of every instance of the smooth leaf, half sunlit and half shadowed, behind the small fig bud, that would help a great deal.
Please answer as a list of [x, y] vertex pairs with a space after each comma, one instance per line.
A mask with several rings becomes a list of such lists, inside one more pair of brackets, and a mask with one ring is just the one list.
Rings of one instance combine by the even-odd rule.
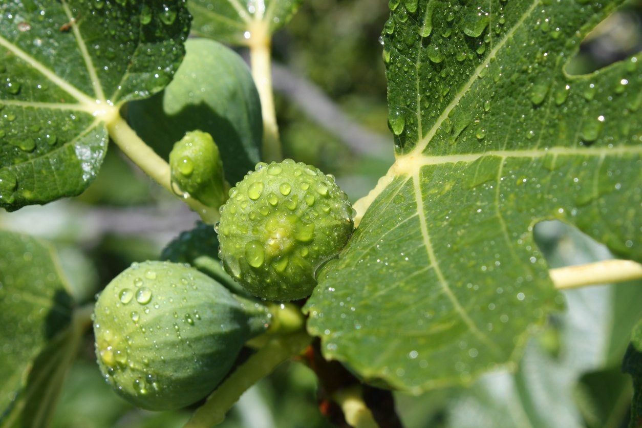
[[232, 184], [259, 162], [261, 101], [240, 56], [213, 40], [191, 39], [174, 80], [157, 96], [128, 105], [132, 127], [164, 158], [187, 131], [210, 133]]

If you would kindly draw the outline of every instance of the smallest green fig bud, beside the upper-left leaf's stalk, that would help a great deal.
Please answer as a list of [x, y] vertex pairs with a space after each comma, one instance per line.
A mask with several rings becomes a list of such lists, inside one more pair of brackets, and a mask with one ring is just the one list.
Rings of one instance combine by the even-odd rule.
[[169, 167], [171, 180], [180, 191], [208, 207], [218, 208], [225, 202], [223, 162], [209, 133], [187, 132], [169, 153]]

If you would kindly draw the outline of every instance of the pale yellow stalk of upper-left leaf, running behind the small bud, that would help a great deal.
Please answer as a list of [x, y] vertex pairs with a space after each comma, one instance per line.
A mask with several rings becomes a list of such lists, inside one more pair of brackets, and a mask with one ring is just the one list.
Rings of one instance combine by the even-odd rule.
[[[169, 164], [155, 151], [150, 148], [130, 128], [129, 124], [119, 114], [114, 115], [107, 121], [107, 130], [109, 136], [128, 158], [130, 158], [139, 168], [150, 176], [155, 182], [160, 184], [170, 193], [177, 195], [171, 185], [171, 173]], [[178, 195], [177, 195], [178, 196]], [[191, 196], [184, 196], [181, 199], [189, 208], [194, 210], [205, 223], [213, 225], [219, 219], [218, 209], [207, 207], [203, 203]]]

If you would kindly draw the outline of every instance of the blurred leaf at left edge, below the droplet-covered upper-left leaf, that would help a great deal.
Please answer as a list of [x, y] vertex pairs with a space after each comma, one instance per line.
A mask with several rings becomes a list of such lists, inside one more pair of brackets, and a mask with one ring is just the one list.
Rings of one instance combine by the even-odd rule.
[[[0, 231], [0, 325], [3, 326], [0, 329], [0, 379], [3, 379], [0, 422], [3, 424], [17, 403], [16, 398], [22, 398], [31, 367], [40, 352], [54, 341], [64, 342], [62, 337], [71, 320], [71, 307], [69, 289], [53, 248], [26, 235]], [[50, 361], [56, 361], [55, 355], [51, 355]], [[46, 380], [51, 379], [46, 377]], [[21, 409], [12, 411], [13, 415], [19, 413]]]

